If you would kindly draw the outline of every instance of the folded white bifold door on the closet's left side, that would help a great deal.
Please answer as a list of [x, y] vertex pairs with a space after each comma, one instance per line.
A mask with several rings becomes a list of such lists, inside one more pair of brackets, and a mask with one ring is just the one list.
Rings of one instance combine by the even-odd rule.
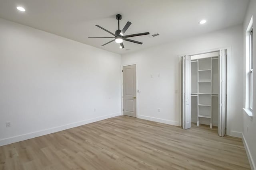
[[182, 128], [191, 127], [191, 57], [182, 57]]

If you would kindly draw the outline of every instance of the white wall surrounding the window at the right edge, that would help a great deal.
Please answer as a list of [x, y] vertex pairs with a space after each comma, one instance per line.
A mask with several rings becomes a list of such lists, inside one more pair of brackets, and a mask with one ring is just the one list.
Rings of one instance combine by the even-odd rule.
[[[245, 37], [246, 37], [246, 29], [248, 27], [248, 24], [250, 22], [250, 19], [251, 17], [253, 16], [254, 20], [253, 20], [253, 27], [256, 28], [256, 0], [251, 0], [250, 1], [250, 4], [248, 6], [248, 10], [247, 10], [247, 13], [246, 13], [246, 17], [244, 19], [244, 30], [243, 30], [243, 33], [244, 33], [244, 44], [243, 46], [245, 47]], [[255, 58], [255, 55], [256, 55], [256, 33], [255, 33], [255, 29], [254, 29], [254, 35], [253, 35], [254, 39], [253, 39], [253, 55], [254, 55], [254, 59], [253, 59], [253, 65], [254, 67], [256, 66], [256, 58]], [[245, 48], [244, 48], [245, 49]], [[246, 67], [246, 63], [245, 63], [245, 60], [246, 60], [246, 53], [245, 53], [245, 50], [244, 50], [244, 55], [243, 55], [243, 60], [244, 60], [244, 71], [243, 71], [243, 74], [244, 74], [244, 89], [243, 89], [243, 92], [244, 94], [246, 94], [246, 70], [245, 70], [245, 67]], [[255, 70], [255, 69], [254, 69]], [[244, 119], [243, 119], [243, 124], [244, 124], [244, 129], [243, 129], [243, 137], [244, 137], [244, 143], [247, 145], [247, 154], [249, 155], [249, 160], [250, 160], [250, 163], [251, 163], [251, 166], [254, 167], [254, 169], [256, 169], [256, 112], [255, 112], [255, 109], [256, 109], [256, 74], [254, 73], [254, 78], [253, 78], [253, 111], [252, 111], [252, 119], [247, 115], [247, 113], [245, 112], [242, 112], [242, 114], [244, 115]], [[243, 104], [244, 104], [244, 107], [245, 107], [245, 97], [244, 96], [244, 101], [243, 101]], [[247, 131], [247, 127], [248, 127], [248, 131]], [[253, 168], [252, 168], [253, 169]]]

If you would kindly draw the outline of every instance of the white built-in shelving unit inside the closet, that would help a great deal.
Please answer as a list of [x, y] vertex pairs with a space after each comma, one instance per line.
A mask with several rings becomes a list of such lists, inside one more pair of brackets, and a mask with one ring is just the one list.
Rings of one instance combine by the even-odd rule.
[[[218, 56], [195, 59], [191, 64], [191, 98], [197, 98], [196, 124], [199, 126], [200, 117], [203, 117], [210, 119], [212, 128], [212, 97], [218, 97]], [[215, 68], [212, 68], [212, 64]]]

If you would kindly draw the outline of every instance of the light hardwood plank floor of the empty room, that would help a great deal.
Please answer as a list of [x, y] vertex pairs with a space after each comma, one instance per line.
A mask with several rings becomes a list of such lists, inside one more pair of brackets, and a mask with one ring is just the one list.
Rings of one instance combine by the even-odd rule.
[[0, 147], [1, 170], [250, 169], [241, 139], [128, 116]]

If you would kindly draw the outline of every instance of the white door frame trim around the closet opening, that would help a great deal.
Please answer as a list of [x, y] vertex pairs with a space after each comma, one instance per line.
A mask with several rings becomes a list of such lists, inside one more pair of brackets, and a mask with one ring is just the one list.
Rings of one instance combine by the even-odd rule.
[[[204, 53], [210, 53], [210, 52], [213, 52], [213, 51], [220, 51], [222, 49], [226, 49], [227, 50], [227, 53], [226, 55], [228, 56], [227, 59], [226, 59], [226, 94], [227, 94], [227, 98], [226, 98], [226, 135], [231, 135], [233, 132], [230, 131], [230, 115], [232, 115], [230, 113], [230, 110], [232, 110], [232, 104], [230, 103], [231, 102], [231, 96], [230, 96], [230, 92], [229, 92], [229, 89], [231, 89], [231, 86], [230, 86], [230, 75], [231, 75], [231, 72], [230, 72], [230, 67], [232, 67], [230, 65], [230, 63], [232, 63], [232, 48], [231, 47], [220, 47], [220, 48], [215, 48], [215, 49], [209, 49], [209, 50], [205, 50], [205, 51], [195, 51], [195, 52], [190, 52], [190, 53], [185, 53], [185, 54], [179, 54], [178, 55], [178, 64], [179, 64], [179, 67], [178, 67], [178, 71], [179, 71], [179, 92], [178, 92], [178, 96], [179, 96], [179, 126], [181, 127], [182, 126], [182, 98], [181, 98], [181, 95], [182, 95], [182, 67], [181, 67], [181, 57], [182, 56], [185, 56], [185, 55], [199, 55], [199, 54], [204, 54]], [[232, 135], [231, 135], [232, 136]]]

